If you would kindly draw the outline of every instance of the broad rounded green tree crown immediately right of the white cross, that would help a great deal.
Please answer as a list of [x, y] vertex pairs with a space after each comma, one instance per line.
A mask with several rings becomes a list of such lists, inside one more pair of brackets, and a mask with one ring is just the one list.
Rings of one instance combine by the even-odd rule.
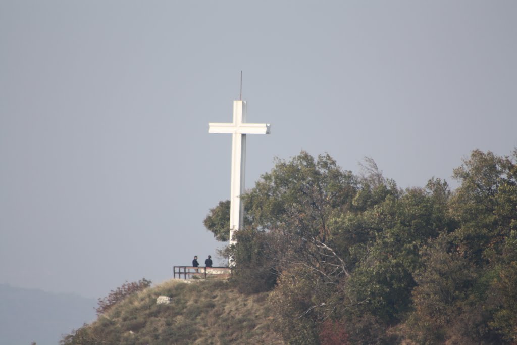
[[244, 200], [254, 228], [325, 242], [329, 218], [349, 208], [356, 190], [356, 177], [343, 171], [328, 154], [314, 159], [302, 151], [290, 161], [277, 159]]

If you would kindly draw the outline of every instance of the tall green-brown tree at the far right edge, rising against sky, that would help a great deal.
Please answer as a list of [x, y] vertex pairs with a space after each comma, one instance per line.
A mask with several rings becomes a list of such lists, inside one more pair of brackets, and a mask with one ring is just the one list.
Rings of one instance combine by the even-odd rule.
[[517, 188], [510, 158], [474, 150], [454, 169], [461, 182], [450, 203], [460, 226], [453, 233], [462, 253], [482, 266], [500, 253], [504, 238], [515, 227]]

